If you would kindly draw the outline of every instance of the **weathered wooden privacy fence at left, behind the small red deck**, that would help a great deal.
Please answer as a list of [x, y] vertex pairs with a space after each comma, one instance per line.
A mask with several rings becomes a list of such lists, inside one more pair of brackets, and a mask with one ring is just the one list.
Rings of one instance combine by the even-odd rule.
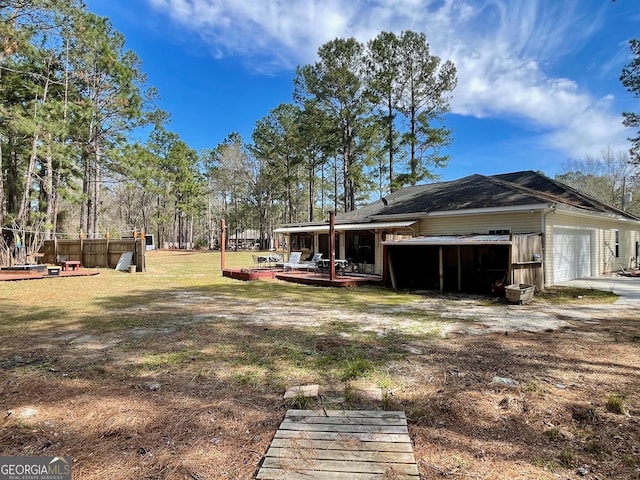
[[43, 263], [57, 263], [60, 256], [67, 260], [79, 260], [87, 268], [115, 268], [123, 253], [133, 253], [132, 264], [137, 272], [146, 270], [144, 239], [123, 238], [112, 240], [45, 240], [40, 248]]

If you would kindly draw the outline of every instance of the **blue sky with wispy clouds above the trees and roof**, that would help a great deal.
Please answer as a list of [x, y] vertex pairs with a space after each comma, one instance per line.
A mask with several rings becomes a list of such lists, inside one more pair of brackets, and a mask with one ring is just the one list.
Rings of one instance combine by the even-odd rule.
[[443, 180], [472, 173], [562, 172], [570, 159], [627, 150], [621, 86], [637, 0], [88, 0], [143, 62], [196, 150], [292, 102], [295, 67], [337, 37], [424, 32], [458, 69], [446, 125], [454, 141]]

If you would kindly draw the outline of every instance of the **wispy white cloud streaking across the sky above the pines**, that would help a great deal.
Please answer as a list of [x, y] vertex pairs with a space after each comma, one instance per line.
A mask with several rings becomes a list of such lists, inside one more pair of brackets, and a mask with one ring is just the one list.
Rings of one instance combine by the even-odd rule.
[[626, 148], [611, 99], [571, 78], [550, 76], [603, 21], [581, 0], [149, 0], [197, 32], [218, 56], [247, 58], [256, 70], [312, 62], [336, 37], [360, 41], [381, 30], [423, 31], [432, 51], [453, 60], [452, 111], [525, 123], [570, 156]]

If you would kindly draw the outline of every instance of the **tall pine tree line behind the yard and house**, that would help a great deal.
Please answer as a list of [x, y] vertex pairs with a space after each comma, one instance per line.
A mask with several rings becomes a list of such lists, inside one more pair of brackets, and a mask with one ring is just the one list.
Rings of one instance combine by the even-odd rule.
[[[169, 130], [142, 62], [80, 0], [0, 2], [0, 225], [6, 261], [54, 236], [154, 233], [213, 247], [349, 211], [434, 178], [456, 86], [423, 33], [322, 45], [291, 103], [196, 152]], [[18, 243], [19, 242], [19, 243]], [[22, 247], [18, 249], [16, 247]]]

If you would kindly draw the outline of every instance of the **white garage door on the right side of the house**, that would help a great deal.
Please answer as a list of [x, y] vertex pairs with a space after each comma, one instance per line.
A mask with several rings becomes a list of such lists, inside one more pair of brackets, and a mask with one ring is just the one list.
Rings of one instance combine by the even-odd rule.
[[570, 228], [553, 231], [553, 282], [591, 276], [591, 232]]

